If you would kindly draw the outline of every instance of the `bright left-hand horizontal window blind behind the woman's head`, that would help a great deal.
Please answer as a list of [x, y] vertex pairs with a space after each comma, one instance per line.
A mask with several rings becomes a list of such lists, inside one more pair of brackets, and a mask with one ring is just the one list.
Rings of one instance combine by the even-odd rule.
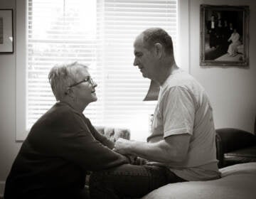
[[[27, 8], [26, 128], [30, 129], [55, 103], [48, 83], [48, 72], [53, 65], [78, 61], [92, 68], [92, 76], [100, 72], [96, 66], [96, 1], [28, 0]], [[100, 90], [97, 95], [101, 97]], [[95, 106], [87, 108], [94, 120], [97, 109]]]

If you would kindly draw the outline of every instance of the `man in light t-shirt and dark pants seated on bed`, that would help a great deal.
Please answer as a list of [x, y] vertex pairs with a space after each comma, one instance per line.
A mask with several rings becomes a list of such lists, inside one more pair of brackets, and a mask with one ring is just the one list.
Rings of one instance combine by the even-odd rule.
[[149, 28], [134, 42], [134, 65], [161, 85], [146, 142], [118, 139], [114, 151], [145, 158], [92, 173], [91, 198], [140, 198], [167, 183], [220, 178], [213, 112], [206, 91], [175, 63], [166, 31]]

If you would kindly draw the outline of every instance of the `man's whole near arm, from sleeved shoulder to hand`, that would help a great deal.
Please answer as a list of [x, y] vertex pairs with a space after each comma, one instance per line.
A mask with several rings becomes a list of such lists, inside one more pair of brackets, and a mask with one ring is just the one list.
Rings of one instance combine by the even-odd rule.
[[183, 161], [193, 131], [195, 104], [185, 87], [168, 87], [164, 90], [159, 109], [164, 124], [164, 138], [156, 143], [118, 139], [114, 150], [120, 154], [133, 154], [149, 161], [171, 163]]

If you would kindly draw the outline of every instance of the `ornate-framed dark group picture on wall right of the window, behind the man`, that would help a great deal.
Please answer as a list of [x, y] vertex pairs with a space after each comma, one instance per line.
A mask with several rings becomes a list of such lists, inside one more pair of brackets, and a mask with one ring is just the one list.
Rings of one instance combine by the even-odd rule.
[[249, 65], [249, 6], [200, 9], [200, 65]]

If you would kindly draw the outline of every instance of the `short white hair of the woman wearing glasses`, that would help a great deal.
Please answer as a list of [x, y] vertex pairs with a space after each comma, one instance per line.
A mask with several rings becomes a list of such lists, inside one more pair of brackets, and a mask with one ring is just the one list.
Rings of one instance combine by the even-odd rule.
[[77, 74], [82, 68], [88, 69], [86, 65], [75, 62], [70, 64], [54, 65], [53, 68], [50, 69], [48, 79], [50, 87], [53, 90], [53, 95], [57, 101], [63, 99], [68, 87], [77, 82]]

